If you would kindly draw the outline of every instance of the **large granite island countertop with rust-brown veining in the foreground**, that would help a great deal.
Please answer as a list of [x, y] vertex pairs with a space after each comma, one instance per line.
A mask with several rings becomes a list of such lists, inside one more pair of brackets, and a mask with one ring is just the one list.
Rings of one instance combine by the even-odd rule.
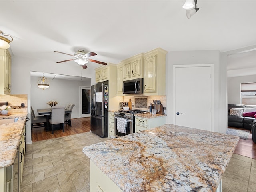
[[238, 141], [238, 136], [165, 124], [83, 152], [124, 192], [215, 192]]

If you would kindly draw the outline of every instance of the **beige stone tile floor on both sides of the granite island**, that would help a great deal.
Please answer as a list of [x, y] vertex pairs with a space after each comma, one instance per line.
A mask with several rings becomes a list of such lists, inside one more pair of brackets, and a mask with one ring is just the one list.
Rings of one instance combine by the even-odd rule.
[[[28, 144], [21, 192], [89, 192], [90, 161], [82, 148], [109, 139], [86, 132]], [[222, 192], [255, 191], [256, 159], [234, 154]]]

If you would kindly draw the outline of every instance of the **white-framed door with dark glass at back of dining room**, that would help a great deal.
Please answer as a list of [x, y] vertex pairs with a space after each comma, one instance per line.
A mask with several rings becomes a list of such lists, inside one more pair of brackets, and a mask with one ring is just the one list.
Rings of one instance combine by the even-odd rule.
[[80, 87], [80, 118], [90, 117], [90, 96], [91, 88], [90, 87]]

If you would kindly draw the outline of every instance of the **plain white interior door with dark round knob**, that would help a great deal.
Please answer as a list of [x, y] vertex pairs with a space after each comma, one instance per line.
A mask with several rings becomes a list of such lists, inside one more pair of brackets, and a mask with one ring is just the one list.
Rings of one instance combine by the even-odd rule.
[[213, 65], [173, 66], [174, 124], [213, 131]]

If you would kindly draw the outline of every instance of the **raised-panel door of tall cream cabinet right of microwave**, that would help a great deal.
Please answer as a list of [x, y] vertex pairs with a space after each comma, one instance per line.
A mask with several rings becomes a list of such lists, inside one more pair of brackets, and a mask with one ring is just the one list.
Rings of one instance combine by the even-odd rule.
[[144, 92], [156, 92], [156, 55], [144, 59]]

